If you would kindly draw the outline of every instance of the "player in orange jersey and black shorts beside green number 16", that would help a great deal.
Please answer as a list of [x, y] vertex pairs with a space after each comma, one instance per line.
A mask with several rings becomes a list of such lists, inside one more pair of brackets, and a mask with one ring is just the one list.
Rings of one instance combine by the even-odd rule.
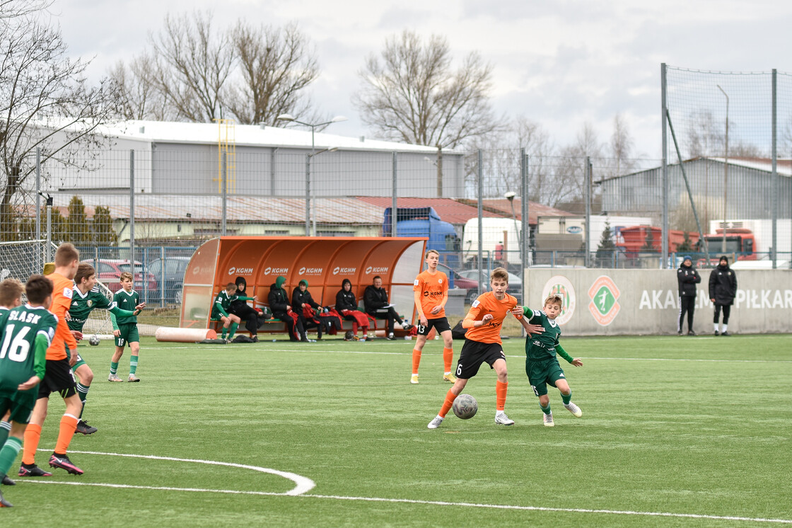
[[63, 243], [55, 251], [55, 271], [48, 275], [54, 286], [52, 290], [52, 304], [50, 312], [58, 318], [58, 327], [55, 330], [55, 339], [47, 349], [47, 369], [44, 380], [39, 384], [39, 395], [36, 407], [30, 418], [28, 428], [25, 430], [25, 447], [22, 451], [22, 465], [19, 476], [51, 476], [36, 465], [36, 449], [41, 438], [41, 426], [47, 418], [47, 405], [52, 392], [58, 392], [66, 404], [66, 412], [60, 419], [58, 442], [55, 443], [55, 452], [49, 459], [53, 468], [66, 469], [68, 473], [82, 475], [82, 469], [72, 464], [66, 451], [71, 438], [77, 429], [78, 416], [82, 411], [82, 401], [77, 394], [77, 382], [71, 366], [77, 363], [77, 341], [71, 334], [66, 321], [69, 311], [71, 296], [74, 288], [74, 275], [77, 274], [80, 254], [70, 243]]

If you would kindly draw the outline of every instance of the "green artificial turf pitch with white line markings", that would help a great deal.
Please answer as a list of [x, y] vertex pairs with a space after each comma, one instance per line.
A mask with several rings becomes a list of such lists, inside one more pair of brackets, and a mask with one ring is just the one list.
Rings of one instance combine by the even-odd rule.
[[[563, 339], [584, 361], [575, 368], [562, 360], [583, 417], [566, 411], [550, 388], [554, 428], [543, 427], [527, 383], [524, 342], [509, 339], [506, 412], [516, 425], [494, 423], [496, 378], [485, 365], [464, 391], [478, 400], [478, 414], [464, 421], [449, 413], [437, 430], [426, 425], [450, 387], [442, 380], [441, 342], [428, 342], [421, 383], [410, 385], [414, 342], [268, 339], [204, 346], [144, 338], [137, 384], [106, 381], [110, 340], [81, 346], [95, 373], [84, 418], [99, 430], [75, 435], [70, 457], [86, 473], [18, 478], [16, 487], [2, 488], [15, 507], [0, 510], [0, 524], [792, 521], [789, 335]], [[455, 342], [455, 361], [461, 347]], [[128, 366], [127, 351], [119, 368], [124, 380]], [[54, 396], [36, 456], [42, 467], [62, 412]], [[258, 466], [316, 485], [290, 496], [284, 493], [295, 483], [271, 473], [118, 454]]]

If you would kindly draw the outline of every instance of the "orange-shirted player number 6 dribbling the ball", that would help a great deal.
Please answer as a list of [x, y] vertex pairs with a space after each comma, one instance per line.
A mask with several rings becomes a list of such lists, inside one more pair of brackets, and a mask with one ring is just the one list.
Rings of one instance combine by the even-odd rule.
[[[446, 393], [440, 413], [428, 424], [429, 429], [436, 429], [443, 423], [445, 415], [454, 404], [456, 396], [465, 388], [467, 381], [478, 373], [482, 363], [487, 363], [497, 373], [495, 382], [495, 423], [501, 425], [514, 425], [514, 420], [509, 419], [505, 413], [506, 390], [508, 388], [508, 373], [506, 371], [506, 356], [501, 343], [501, 326], [508, 312], [517, 305], [517, 300], [506, 293], [508, 288], [508, 272], [503, 268], [495, 268], [489, 274], [491, 291], [482, 293], [474, 300], [470, 312], [462, 322], [462, 327], [467, 328], [465, 344], [459, 353], [456, 366], [456, 381]], [[527, 328], [531, 334], [543, 330], [538, 325]]]

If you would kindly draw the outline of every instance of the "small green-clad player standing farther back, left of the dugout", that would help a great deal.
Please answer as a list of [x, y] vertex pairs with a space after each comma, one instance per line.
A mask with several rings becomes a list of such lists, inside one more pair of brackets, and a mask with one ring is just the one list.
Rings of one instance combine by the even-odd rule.
[[[134, 277], [128, 271], [124, 271], [120, 275], [121, 289], [116, 292], [112, 297], [119, 308], [127, 311], [137, 310], [143, 308], [146, 303], [140, 302], [139, 293], [132, 289], [135, 285]], [[133, 308], [134, 307], [134, 308]], [[140, 335], [138, 334], [138, 318], [132, 316], [118, 316], [110, 312], [110, 319], [112, 319], [112, 335], [116, 336], [116, 352], [112, 354], [110, 361], [110, 375], [108, 381], [121, 381], [117, 376], [118, 362], [121, 356], [124, 355], [124, 346], [129, 344], [131, 354], [129, 356], [129, 378], [127, 381], [140, 381], [140, 378], [135, 376], [135, 371], [138, 369], [138, 356], [140, 354]]]

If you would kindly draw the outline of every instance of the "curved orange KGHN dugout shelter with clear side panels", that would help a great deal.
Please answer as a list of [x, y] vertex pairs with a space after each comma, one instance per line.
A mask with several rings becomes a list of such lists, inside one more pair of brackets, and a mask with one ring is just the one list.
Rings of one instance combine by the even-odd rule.
[[336, 303], [341, 282], [348, 278], [357, 299], [374, 277], [383, 278], [390, 302], [400, 313], [413, 315], [413, 281], [424, 264], [425, 238], [223, 236], [202, 244], [185, 271], [181, 303], [182, 328], [208, 328], [217, 293], [237, 277], [245, 277], [247, 295], [267, 304], [270, 285], [286, 277], [291, 296], [299, 281], [308, 281], [314, 300]]

